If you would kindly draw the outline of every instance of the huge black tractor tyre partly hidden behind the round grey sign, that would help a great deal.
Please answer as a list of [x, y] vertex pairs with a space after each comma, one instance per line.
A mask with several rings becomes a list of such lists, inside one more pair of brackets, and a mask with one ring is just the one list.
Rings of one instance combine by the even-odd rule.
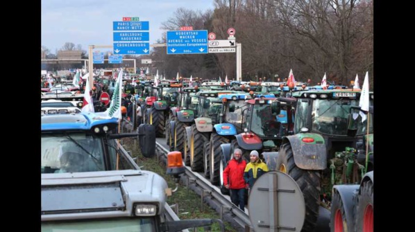
[[314, 231], [319, 217], [320, 203], [320, 172], [319, 170], [303, 170], [294, 163], [291, 144], [282, 145], [276, 164], [277, 170], [292, 177], [303, 192], [305, 201], [305, 220], [303, 232]]

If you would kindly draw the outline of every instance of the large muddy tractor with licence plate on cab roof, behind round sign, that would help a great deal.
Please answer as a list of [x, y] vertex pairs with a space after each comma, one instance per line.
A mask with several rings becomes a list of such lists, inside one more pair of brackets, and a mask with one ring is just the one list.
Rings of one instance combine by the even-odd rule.
[[[290, 175], [300, 186], [306, 204], [303, 231], [314, 231], [319, 207], [330, 202], [336, 170], [332, 167], [352, 161], [350, 148], [357, 148], [368, 130], [373, 134], [371, 116], [367, 124], [354, 120], [353, 109], [359, 105], [360, 93], [353, 89], [322, 89], [295, 91], [294, 98], [278, 98], [278, 102], [295, 105], [294, 131], [282, 138], [275, 167], [268, 166]], [[373, 105], [373, 92], [369, 94]], [[350, 123], [356, 125], [350, 127]]]

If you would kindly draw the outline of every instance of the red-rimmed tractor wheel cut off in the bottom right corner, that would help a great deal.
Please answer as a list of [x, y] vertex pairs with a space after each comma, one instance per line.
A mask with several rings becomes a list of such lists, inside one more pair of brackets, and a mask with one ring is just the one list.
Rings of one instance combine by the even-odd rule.
[[363, 183], [357, 198], [355, 231], [373, 232], [373, 183]]

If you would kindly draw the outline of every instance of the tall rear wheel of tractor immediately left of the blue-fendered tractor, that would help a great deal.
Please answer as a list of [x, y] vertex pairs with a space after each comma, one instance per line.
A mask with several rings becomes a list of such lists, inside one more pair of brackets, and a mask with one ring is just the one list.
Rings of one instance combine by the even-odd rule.
[[196, 125], [192, 125], [192, 137], [190, 138], [190, 168], [194, 172], [203, 170], [203, 144], [209, 141], [209, 133], [199, 132]]

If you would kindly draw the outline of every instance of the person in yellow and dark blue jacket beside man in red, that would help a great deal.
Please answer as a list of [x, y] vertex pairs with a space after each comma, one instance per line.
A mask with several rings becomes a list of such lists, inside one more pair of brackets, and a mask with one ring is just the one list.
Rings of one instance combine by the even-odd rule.
[[262, 174], [268, 172], [269, 168], [266, 166], [266, 163], [262, 162], [256, 150], [253, 150], [251, 154], [249, 154], [249, 157], [251, 162], [246, 165], [244, 179], [249, 185], [249, 192], [251, 192], [255, 181], [260, 178]]

